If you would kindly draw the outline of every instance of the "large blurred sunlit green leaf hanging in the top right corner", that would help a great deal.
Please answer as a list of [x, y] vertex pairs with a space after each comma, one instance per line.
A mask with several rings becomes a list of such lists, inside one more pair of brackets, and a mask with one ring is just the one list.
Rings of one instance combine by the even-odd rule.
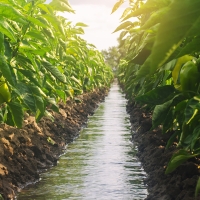
[[[170, 5], [169, 11], [163, 16], [156, 41], [154, 43], [150, 64], [150, 72], [153, 74], [161, 67], [173, 52], [180, 46], [182, 40], [197, 26], [199, 22], [199, 0], [175, 0]], [[176, 23], [174, 23], [176, 22]]]

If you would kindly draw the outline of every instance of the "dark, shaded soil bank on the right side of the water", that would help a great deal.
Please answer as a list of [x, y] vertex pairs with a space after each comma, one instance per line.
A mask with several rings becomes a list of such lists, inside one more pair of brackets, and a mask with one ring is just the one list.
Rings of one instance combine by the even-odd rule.
[[[161, 128], [151, 131], [151, 113], [143, 112], [134, 103], [129, 102], [127, 111], [134, 132], [132, 140], [137, 143], [139, 160], [148, 174], [145, 183], [149, 195], [146, 200], [194, 200], [200, 159], [191, 159], [165, 175], [166, 165], [177, 151], [176, 143], [165, 148], [171, 134], [162, 134]], [[200, 195], [196, 199], [199, 200]]]

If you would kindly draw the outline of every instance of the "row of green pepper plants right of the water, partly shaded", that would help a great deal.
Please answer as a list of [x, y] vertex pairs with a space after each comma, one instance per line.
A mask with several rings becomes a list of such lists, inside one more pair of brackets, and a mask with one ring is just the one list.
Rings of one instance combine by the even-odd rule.
[[152, 110], [152, 128], [173, 132], [167, 147], [177, 143], [179, 150], [167, 174], [200, 155], [200, 1], [129, 1], [121, 19], [115, 31], [128, 53], [118, 79], [129, 99]]

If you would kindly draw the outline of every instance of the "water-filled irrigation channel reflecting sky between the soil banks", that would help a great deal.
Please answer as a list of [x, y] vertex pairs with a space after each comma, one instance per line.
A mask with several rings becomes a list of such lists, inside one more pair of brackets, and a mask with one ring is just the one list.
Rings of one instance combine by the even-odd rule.
[[146, 174], [132, 145], [126, 99], [114, 83], [80, 137], [57, 166], [22, 190], [18, 200], [143, 200]]

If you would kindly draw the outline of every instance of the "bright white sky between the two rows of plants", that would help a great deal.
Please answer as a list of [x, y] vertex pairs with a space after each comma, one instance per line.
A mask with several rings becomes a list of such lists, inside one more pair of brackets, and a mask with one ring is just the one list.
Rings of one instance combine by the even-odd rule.
[[[47, 0], [50, 2], [51, 0]], [[66, 13], [65, 16], [73, 24], [83, 22], [89, 27], [84, 28], [85, 34], [81, 37], [94, 44], [98, 50], [116, 46], [120, 32], [112, 32], [120, 25], [120, 17], [127, 7], [124, 3], [111, 15], [113, 6], [118, 0], [69, 0], [76, 14]]]

